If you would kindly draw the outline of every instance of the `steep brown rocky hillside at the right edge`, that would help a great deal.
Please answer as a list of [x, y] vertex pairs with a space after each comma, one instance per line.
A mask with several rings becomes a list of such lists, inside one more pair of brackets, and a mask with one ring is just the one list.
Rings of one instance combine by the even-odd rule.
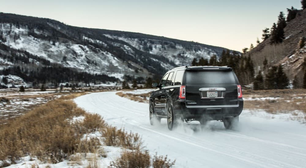
[[267, 58], [268, 66], [282, 64], [288, 78], [292, 80], [295, 75], [302, 83], [304, 67], [302, 66], [306, 57], [306, 48], [300, 49], [298, 43], [300, 38], [306, 37], [306, 10], [298, 10], [296, 18], [287, 22], [284, 29], [285, 39], [282, 43], [270, 44], [271, 37], [261, 42], [248, 54], [256, 67], [256, 74], [264, 70], [263, 60]]

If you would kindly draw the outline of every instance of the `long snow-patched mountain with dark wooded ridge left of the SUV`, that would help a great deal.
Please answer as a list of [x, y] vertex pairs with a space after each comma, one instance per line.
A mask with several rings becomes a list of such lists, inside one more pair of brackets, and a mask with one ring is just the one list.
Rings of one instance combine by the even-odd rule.
[[8, 13], [0, 13], [0, 34], [0, 70], [20, 66], [32, 71], [33, 65], [41, 69], [56, 64], [119, 80], [130, 75], [139, 82], [176, 66], [190, 65], [193, 58], [220, 57], [226, 50], [141, 33], [73, 27], [56, 20]]

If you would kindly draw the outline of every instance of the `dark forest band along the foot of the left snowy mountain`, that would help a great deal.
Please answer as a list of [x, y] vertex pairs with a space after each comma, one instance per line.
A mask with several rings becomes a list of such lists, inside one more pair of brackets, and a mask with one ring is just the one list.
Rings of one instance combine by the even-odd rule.
[[[28, 53], [27, 51], [13, 49], [1, 43], [0, 49], [7, 52], [6, 54], [0, 52], [0, 58], [14, 63], [14, 66], [0, 70], [0, 74], [19, 76], [25, 82], [32, 82], [33, 86], [45, 83], [52, 83], [54, 86], [58, 86], [59, 83], [65, 82], [84, 82], [89, 84], [118, 81], [115, 77], [89, 74], [87, 72], [79, 72], [73, 68], [66, 68], [60, 64], [51, 63], [49, 60]], [[0, 82], [5, 83], [5, 81]]]

